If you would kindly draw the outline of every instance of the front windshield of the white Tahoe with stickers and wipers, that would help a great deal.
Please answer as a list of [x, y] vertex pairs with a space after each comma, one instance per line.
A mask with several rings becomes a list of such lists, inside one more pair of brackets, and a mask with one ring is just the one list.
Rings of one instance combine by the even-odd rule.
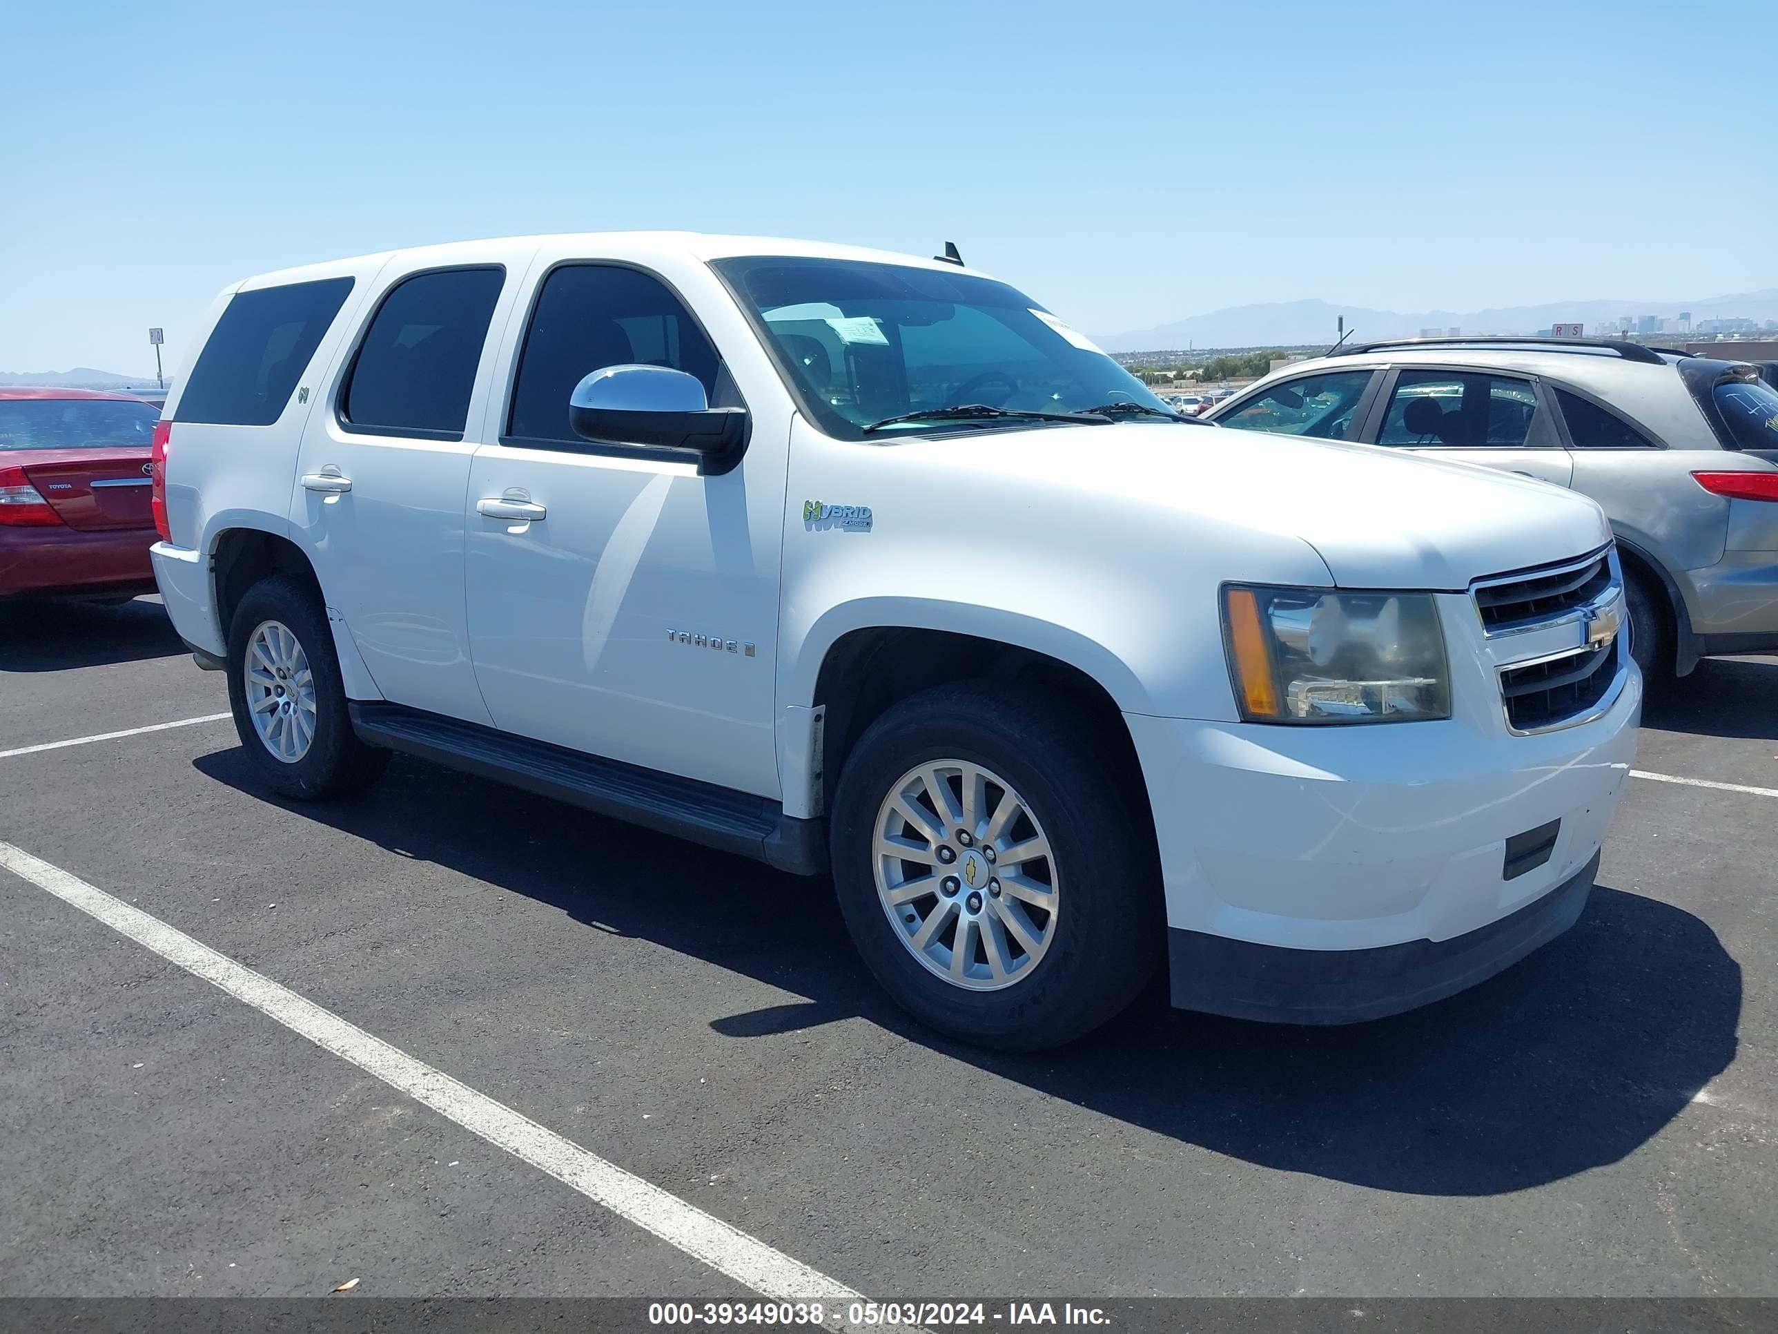
[[967, 406], [1063, 414], [1129, 404], [1173, 416], [1141, 381], [1005, 283], [857, 260], [713, 267], [759, 324], [804, 414], [839, 439], [1044, 423], [981, 414], [878, 425]]

